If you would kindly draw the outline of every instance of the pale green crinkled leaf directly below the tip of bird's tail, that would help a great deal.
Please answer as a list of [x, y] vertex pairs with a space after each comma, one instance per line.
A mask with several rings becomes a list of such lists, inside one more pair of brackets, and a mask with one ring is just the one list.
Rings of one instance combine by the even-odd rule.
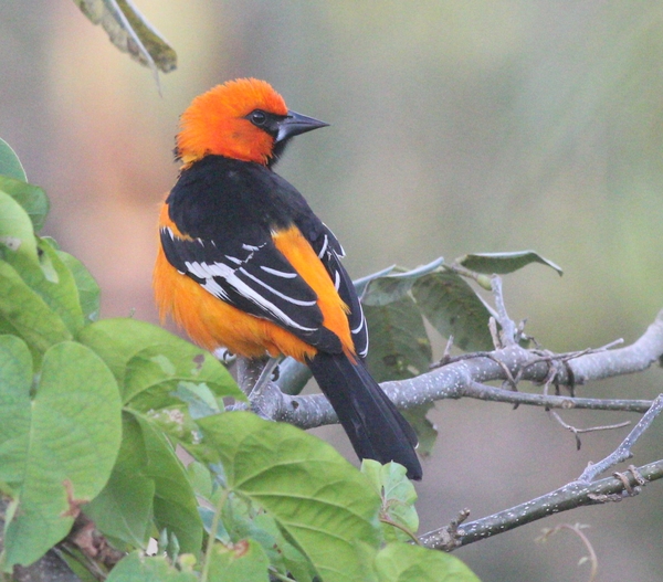
[[412, 535], [417, 533], [419, 529], [419, 516], [414, 508], [417, 491], [406, 475], [406, 467], [398, 463], [381, 465], [377, 461], [364, 459], [361, 473], [368, 477], [382, 499], [380, 518], [382, 519], [385, 540], [388, 542], [412, 541], [412, 537], [406, 531], [385, 522], [388, 520], [401, 526]]

